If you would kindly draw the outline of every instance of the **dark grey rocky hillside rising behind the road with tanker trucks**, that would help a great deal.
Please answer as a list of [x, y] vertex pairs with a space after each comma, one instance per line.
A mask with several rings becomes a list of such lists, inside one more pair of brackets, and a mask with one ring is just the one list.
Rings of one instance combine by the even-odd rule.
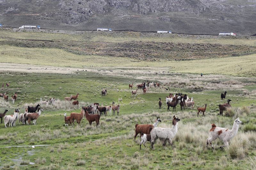
[[256, 0], [0, 0], [4, 26], [255, 34]]

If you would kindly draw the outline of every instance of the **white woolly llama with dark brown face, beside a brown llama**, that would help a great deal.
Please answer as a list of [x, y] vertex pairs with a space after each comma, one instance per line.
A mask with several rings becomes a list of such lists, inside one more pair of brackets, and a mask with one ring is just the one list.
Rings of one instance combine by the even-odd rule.
[[176, 118], [174, 115], [172, 119], [172, 128], [153, 128], [152, 130], [150, 128], [152, 149], [154, 148], [154, 144], [157, 138], [162, 141], [163, 146], [165, 146], [167, 141], [172, 145], [172, 139], [178, 132], [178, 121], [180, 121], [180, 119]]

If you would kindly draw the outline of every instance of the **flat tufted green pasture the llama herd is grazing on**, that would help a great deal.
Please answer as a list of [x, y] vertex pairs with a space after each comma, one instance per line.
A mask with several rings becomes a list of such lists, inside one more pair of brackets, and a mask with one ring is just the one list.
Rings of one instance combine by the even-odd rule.
[[[209, 75], [198, 79], [193, 74], [173, 74], [167, 78], [165, 73], [157, 76], [148, 73], [132, 78], [132, 75], [125, 76], [127, 73], [129, 72], [119, 75], [113, 73], [112, 76], [106, 76], [104, 72], [85, 71], [73, 74], [1, 73], [1, 82], [11, 82], [10, 88], [2, 91], [6, 91], [8, 96], [17, 91], [18, 99], [15, 104], [0, 99], [0, 112], [8, 108], [10, 111], [7, 114], [10, 115], [19, 107], [23, 113], [25, 106], [39, 103], [41, 97], [43, 100], [50, 97], [60, 100], [55, 106], [42, 106], [44, 111], [38, 118], [37, 125], [21, 125], [17, 122], [16, 127], [4, 128], [4, 124], [1, 124], [1, 168], [253, 169], [256, 154], [254, 78]], [[187, 79], [183, 80], [183, 77]], [[128, 84], [133, 81], [134, 84], [139, 84], [145, 80], [157, 80], [163, 85], [161, 88], [149, 89], [145, 95], [139, 90], [137, 97], [131, 97]], [[101, 97], [101, 88], [108, 89], [106, 97]], [[166, 91], [165, 88], [169, 90]], [[233, 108], [240, 107], [242, 110], [236, 113], [239, 115], [217, 115], [218, 104], [225, 102], [220, 100], [223, 90], [228, 91], [227, 98], [232, 100]], [[80, 105], [70, 108], [69, 104], [63, 102], [63, 97], [77, 92], [80, 94]], [[196, 117], [196, 109], [180, 111], [180, 106], [177, 106], [176, 112], [166, 112], [164, 101], [163, 108], [159, 110], [158, 98], [164, 100], [169, 92], [182, 92], [194, 97], [195, 107], [202, 107], [207, 103], [206, 116], [203, 117], [201, 113]], [[120, 103], [119, 116], [101, 116], [98, 128], [95, 127], [95, 122], [91, 127], [86, 119], [82, 120], [80, 126], [64, 126], [64, 112], [69, 115], [71, 112], [80, 112], [82, 104], [98, 102], [109, 105], [112, 101]], [[144, 146], [140, 150], [139, 137], [135, 141], [133, 139], [135, 124], [153, 123], [160, 116], [162, 122], [159, 127], [171, 127], [173, 115], [181, 119], [174, 139], [175, 147], [172, 149], [167, 145], [163, 148], [158, 142], [154, 150]], [[235, 116], [239, 116], [244, 124], [240, 126], [230, 146], [220, 150], [218, 147], [222, 142], [216, 140], [213, 142], [215, 150], [205, 149], [211, 123], [231, 129]], [[36, 146], [35, 149], [4, 148], [40, 144], [48, 146]], [[149, 147], [149, 143], [146, 146]], [[29, 165], [29, 162], [35, 164]]]

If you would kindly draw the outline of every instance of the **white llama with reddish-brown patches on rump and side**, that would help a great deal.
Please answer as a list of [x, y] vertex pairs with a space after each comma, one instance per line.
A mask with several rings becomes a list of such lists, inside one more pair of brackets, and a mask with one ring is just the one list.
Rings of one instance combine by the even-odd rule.
[[[206, 147], [210, 143], [212, 145], [212, 141], [219, 138], [224, 143], [223, 146], [220, 146], [220, 148], [223, 148], [224, 146], [228, 146], [228, 142], [237, 134], [239, 124], [241, 124], [242, 121], [237, 118], [234, 121], [233, 128], [231, 130], [226, 128], [219, 128], [215, 124], [212, 124], [212, 128], [210, 129], [209, 137], [206, 139]], [[213, 145], [212, 145], [212, 149]]]

